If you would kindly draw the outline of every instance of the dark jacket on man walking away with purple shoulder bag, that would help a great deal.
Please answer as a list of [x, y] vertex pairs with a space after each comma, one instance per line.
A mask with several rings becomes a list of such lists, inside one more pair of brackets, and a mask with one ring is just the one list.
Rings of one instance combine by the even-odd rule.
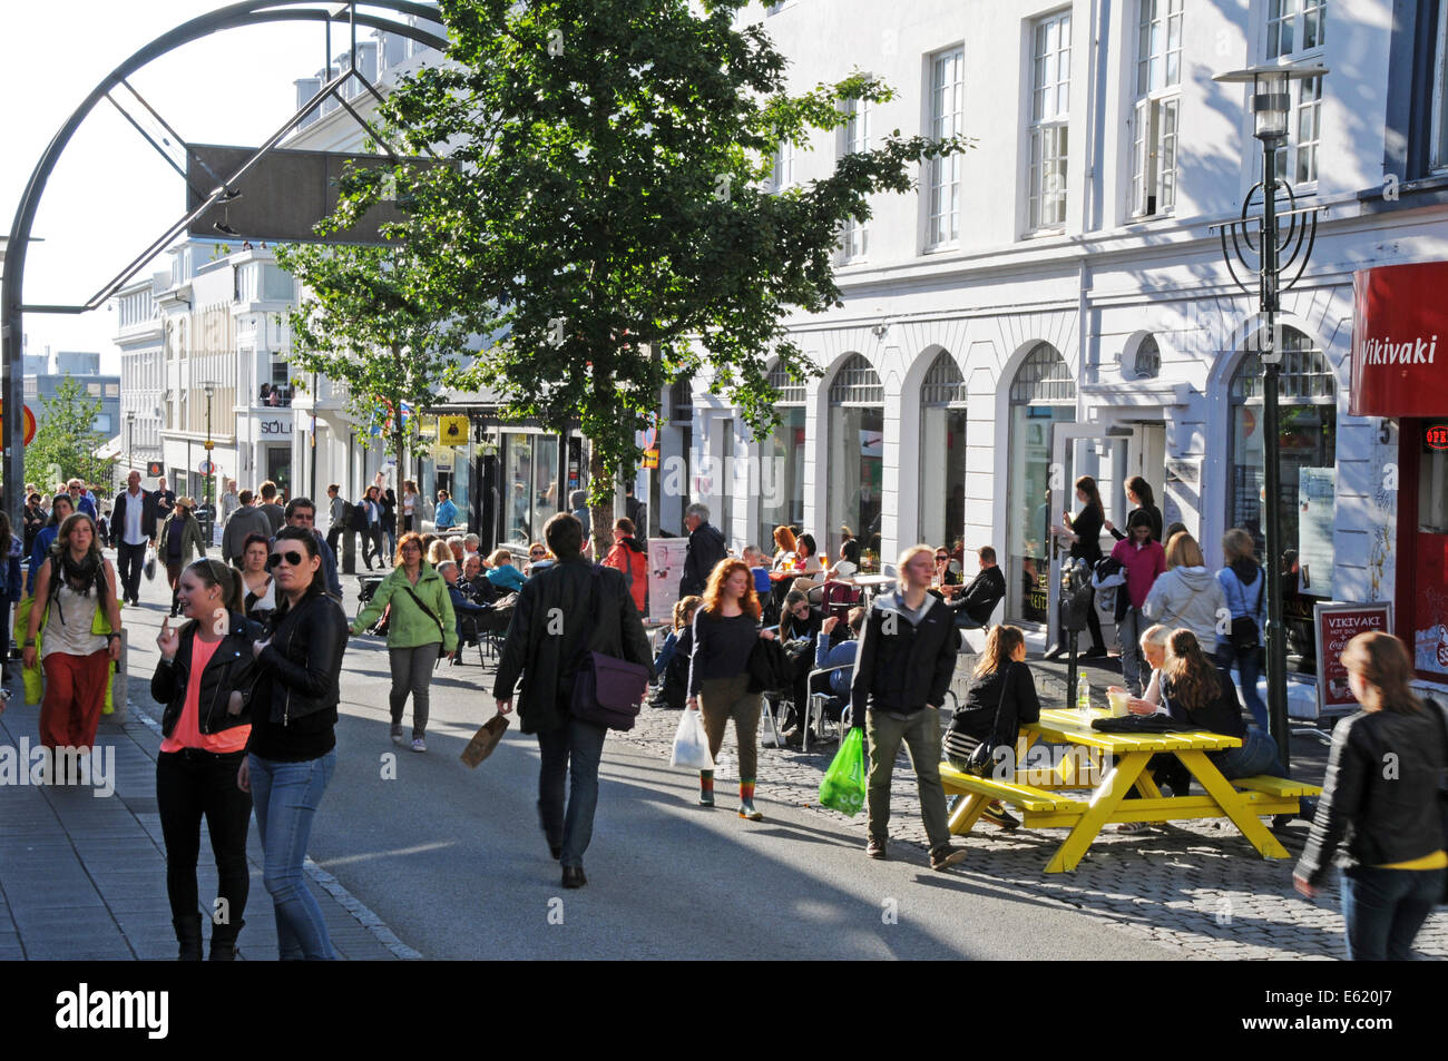
[[[654, 670], [643, 621], [621, 572], [582, 557], [534, 570], [513, 609], [492, 695], [513, 699], [521, 679], [518, 728], [547, 732], [569, 721], [573, 675], [584, 651], [639, 663], [649, 669], [650, 677]], [[592, 595], [597, 596], [589, 614]]]

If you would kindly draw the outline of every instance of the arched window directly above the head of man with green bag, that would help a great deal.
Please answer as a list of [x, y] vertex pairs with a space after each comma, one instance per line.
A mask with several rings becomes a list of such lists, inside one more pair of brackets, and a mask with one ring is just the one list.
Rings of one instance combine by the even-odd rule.
[[947, 350], [919, 388], [919, 537], [954, 550], [966, 528], [966, 378]]

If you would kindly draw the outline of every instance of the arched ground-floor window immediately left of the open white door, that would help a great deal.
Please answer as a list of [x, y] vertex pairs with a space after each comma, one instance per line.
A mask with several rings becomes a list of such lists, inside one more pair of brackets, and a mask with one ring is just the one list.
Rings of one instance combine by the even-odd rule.
[[1037, 343], [1011, 381], [1008, 618], [1048, 620], [1051, 430], [1054, 424], [1074, 423], [1076, 379], [1070, 366], [1054, 346]]

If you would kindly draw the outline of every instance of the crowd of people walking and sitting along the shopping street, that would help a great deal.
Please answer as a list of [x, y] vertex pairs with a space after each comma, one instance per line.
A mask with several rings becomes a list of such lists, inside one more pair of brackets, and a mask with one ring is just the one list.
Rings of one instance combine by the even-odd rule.
[[[410, 740], [417, 753], [427, 750], [429, 686], [439, 657], [456, 657], [484, 631], [501, 638], [492, 695], [498, 712], [515, 708], [521, 731], [539, 741], [540, 824], [565, 887], [586, 884], [582, 860], [607, 737], [602, 724], [578, 709], [578, 676], [591, 653], [626, 660], [657, 680], [656, 703], [699, 712], [715, 760], [733, 722], [737, 813], [747, 821], [763, 818], [754, 792], [766, 695], [773, 696], [772, 711], [794, 715], [776, 721], [791, 740], [817, 737], [809, 730], [815, 715], [805, 705], [822, 699], [841, 728], [863, 731], [870, 858], [889, 855], [891, 783], [904, 745], [937, 870], [964, 857], [951, 842], [941, 763], [972, 769], [982, 744], [1014, 747], [1019, 727], [1040, 717], [1024, 633], [992, 625], [1006, 582], [989, 546], [976, 550], [969, 583], [960, 543], [912, 546], [898, 557], [893, 585], [877, 586], [882, 592], [870, 598], [862, 592], [862, 550], [847, 528], [834, 557], [822, 554], [812, 534], [783, 525], [773, 533], [772, 554], [749, 546], [736, 557], [708, 523], [708, 508], [691, 505], [681, 595], [654, 654], [643, 625], [647, 551], [628, 518], [615, 521], [613, 546], [595, 565], [584, 524], [571, 512], [547, 521], [544, 540], [533, 543], [527, 557], [505, 547], [484, 554], [476, 534], [447, 533], [456, 515], [445, 520], [442, 504], [437, 531], [421, 533], [423, 505], [413, 482], [404, 482], [401, 502], [381, 483], [358, 505], [342, 501], [337, 486], [327, 492], [332, 528], [323, 537], [308, 498], [282, 504], [275, 483], [255, 494], [233, 483], [227, 494], [235, 502], [223, 498], [220, 507], [220, 557], [211, 557], [194, 501], [175, 496], [164, 481], [145, 491], [132, 472], [109, 508], [116, 566], [101, 554], [97, 505], [78, 482], [55, 494], [45, 518], [30, 518], [32, 510], [45, 508], [43, 498], [28, 498], [19, 534], [0, 515], [0, 541], [9, 543], [0, 601], [6, 614], [10, 604], [22, 604], [23, 666], [43, 679], [39, 728], [52, 750], [94, 743], [119, 659], [122, 605], [139, 604], [148, 563], [164, 565], [171, 614], [156, 640], [161, 661], [151, 692], [165, 705], [156, 796], [167, 889], [185, 960], [200, 960], [206, 942], [195, 880], [200, 822], [207, 821], [227, 910], [211, 919], [210, 957], [229, 960], [245, 923], [252, 816], [279, 957], [334, 957], [304, 883], [303, 858], [336, 766], [349, 637], [385, 635], [391, 738]], [[1082, 511], [1064, 514], [1063, 528], [1073, 554], [1098, 575], [1119, 576], [1103, 604], [1116, 620], [1128, 711], [1239, 738], [1237, 748], [1209, 753], [1226, 779], [1280, 773], [1280, 751], [1255, 689], [1266, 605], [1251, 536], [1228, 531], [1225, 565], [1213, 573], [1184, 528], [1163, 528], [1141, 479], [1128, 485], [1135, 508], [1124, 533], [1103, 518], [1092, 479], [1076, 482], [1076, 496]], [[440, 502], [450, 502], [445, 492]], [[1109, 556], [1098, 541], [1103, 530], [1118, 538]], [[365, 556], [371, 546], [371, 556], [390, 567], [350, 622], [336, 559], [337, 536], [348, 533], [363, 538]], [[22, 578], [26, 553], [30, 565]], [[1096, 611], [1087, 656], [1106, 651]], [[175, 617], [188, 622], [172, 627]], [[941, 712], [961, 630], [973, 628], [985, 630], [983, 648], [947, 722]], [[770, 648], [762, 650], [765, 643]], [[762, 651], [782, 653], [789, 676], [766, 686], [756, 661]], [[1409, 689], [1412, 669], [1394, 638], [1364, 634], [1348, 646], [1344, 663], [1363, 711], [1334, 734], [1326, 792], [1296, 884], [1313, 893], [1337, 855], [1350, 957], [1407, 957], [1448, 871], [1435, 818], [1448, 731], [1435, 718], [1442, 714], [1436, 705]], [[404, 735], [408, 701], [411, 732]], [[1394, 780], [1405, 783], [1380, 780], [1374, 763], [1384, 748], [1400, 756]], [[1148, 770], [1164, 795], [1189, 792], [1192, 777], [1174, 757], [1160, 757]], [[699, 772], [698, 803], [717, 805], [712, 770]], [[1019, 825], [1002, 803], [989, 805], [983, 816], [1002, 829]]]

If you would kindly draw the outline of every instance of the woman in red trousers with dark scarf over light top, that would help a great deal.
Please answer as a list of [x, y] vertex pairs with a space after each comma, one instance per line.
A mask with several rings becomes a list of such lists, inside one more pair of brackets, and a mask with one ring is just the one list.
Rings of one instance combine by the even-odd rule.
[[116, 572], [96, 541], [96, 521], [84, 512], [65, 517], [49, 559], [41, 565], [22, 659], [28, 670], [39, 663], [45, 673], [41, 744], [52, 753], [88, 750], [96, 743], [110, 664], [120, 659], [120, 602]]

